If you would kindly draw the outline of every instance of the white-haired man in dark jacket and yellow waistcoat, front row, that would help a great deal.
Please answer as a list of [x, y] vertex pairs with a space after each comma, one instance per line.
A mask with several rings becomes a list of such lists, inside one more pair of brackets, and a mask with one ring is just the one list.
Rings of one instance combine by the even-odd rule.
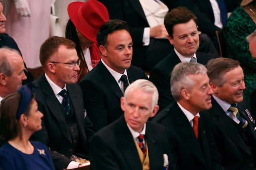
[[158, 111], [158, 92], [148, 80], [136, 80], [121, 98], [118, 120], [90, 141], [91, 170], [162, 170], [168, 166], [168, 138], [161, 125], [147, 122]]

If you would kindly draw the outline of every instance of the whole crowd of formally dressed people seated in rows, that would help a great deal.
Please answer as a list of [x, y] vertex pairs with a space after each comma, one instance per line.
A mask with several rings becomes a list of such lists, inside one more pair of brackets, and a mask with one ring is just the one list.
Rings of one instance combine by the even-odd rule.
[[[72, 2], [66, 38], [42, 43], [44, 72], [23, 86], [17, 45], [0, 47], [0, 170], [255, 170], [255, 72], [239, 56], [255, 64], [256, 28], [239, 30], [237, 15], [254, 21], [256, 1], [242, 0], [227, 20], [223, 8], [238, 1], [205, 2], [223, 28], [224, 57], [198, 31], [206, 11], [193, 11], [196, 0]], [[1, 12], [8, 36], [5, 20]], [[227, 37], [234, 32], [241, 41]]]

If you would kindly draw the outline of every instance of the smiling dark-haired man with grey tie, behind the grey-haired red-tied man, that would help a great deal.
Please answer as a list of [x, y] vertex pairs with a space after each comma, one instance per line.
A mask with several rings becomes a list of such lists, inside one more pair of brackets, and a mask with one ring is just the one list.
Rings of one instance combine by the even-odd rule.
[[206, 64], [211, 56], [196, 52], [199, 46], [196, 16], [185, 7], [174, 8], [164, 18], [164, 25], [168, 31], [168, 39], [174, 45], [174, 50], [160, 61], [150, 73], [152, 81], [159, 92], [158, 105], [160, 110], [174, 101], [170, 92], [170, 74], [174, 66], [180, 62], [194, 62]]

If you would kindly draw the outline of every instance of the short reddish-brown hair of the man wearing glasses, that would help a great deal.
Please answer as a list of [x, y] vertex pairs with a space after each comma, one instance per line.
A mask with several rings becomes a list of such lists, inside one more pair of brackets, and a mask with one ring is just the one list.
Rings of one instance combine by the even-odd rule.
[[46, 41], [44, 41], [44, 43], [40, 47], [40, 55], [39, 55], [40, 63], [43, 68], [45, 68], [46, 62], [50, 59], [50, 57], [58, 51], [60, 45], [64, 45], [68, 49], [76, 48], [76, 44], [70, 39], [57, 37], [57, 36], [53, 36], [46, 39]]

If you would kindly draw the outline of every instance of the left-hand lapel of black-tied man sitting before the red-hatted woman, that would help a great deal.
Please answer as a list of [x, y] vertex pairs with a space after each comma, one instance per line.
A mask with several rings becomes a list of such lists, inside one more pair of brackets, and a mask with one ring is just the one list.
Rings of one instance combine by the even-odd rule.
[[102, 77], [106, 86], [109, 86], [119, 99], [122, 98], [123, 92], [118, 86], [116, 79], [112, 76], [112, 74], [108, 71], [104, 64], [102, 64], [101, 61], [98, 63], [98, 67], [101, 69]]

